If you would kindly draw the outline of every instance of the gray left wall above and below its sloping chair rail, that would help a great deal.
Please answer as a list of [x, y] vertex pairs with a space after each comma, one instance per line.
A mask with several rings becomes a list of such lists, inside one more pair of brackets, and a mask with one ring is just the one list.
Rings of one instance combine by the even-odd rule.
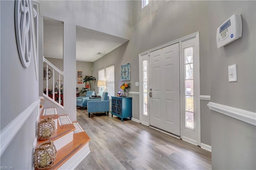
[[[14, 1], [0, 1], [1, 16], [1, 130], [38, 99], [38, 81], [34, 56], [28, 68], [22, 67], [14, 26]], [[36, 108], [14, 140], [0, 157], [0, 166], [31, 169], [33, 142], [36, 137]], [[2, 149], [2, 148], [1, 148]]]

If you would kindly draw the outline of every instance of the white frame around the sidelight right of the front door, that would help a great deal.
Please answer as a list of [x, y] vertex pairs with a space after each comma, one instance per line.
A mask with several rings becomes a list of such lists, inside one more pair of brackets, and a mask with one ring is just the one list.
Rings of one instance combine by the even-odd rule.
[[[186, 87], [185, 87], [185, 67], [184, 67], [184, 49], [193, 47], [193, 77], [194, 77], [194, 129], [186, 127]], [[180, 84], [181, 84], [181, 131], [182, 140], [192, 144], [201, 145], [201, 126], [200, 126], [200, 56], [199, 56], [199, 32], [194, 37], [184, 40], [180, 43]], [[183, 90], [184, 89], [184, 90]]]

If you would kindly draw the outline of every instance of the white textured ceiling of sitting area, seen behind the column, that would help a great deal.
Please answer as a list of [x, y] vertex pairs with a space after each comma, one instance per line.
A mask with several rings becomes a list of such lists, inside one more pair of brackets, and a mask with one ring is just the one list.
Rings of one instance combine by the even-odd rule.
[[[94, 62], [127, 39], [76, 26], [76, 60]], [[44, 17], [44, 57], [63, 58], [63, 22]]]

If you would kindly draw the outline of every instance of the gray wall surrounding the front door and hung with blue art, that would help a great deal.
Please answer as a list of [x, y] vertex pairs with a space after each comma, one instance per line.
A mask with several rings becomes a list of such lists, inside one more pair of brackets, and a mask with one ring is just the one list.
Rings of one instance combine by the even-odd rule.
[[[133, 1], [134, 27], [130, 41], [111, 51], [94, 62], [93, 75], [98, 76], [98, 69], [115, 64], [115, 93], [120, 91], [120, 65], [131, 63], [131, 89], [139, 91], [135, 82], [139, 81], [139, 53], [172, 42], [194, 32], [200, 32], [200, 73], [201, 95], [210, 95], [209, 41], [208, 41], [208, 2], [207, 1], [150, 1], [141, 9], [141, 1]], [[182, 21], [182, 22], [180, 22]], [[196, 23], [196, 24], [195, 24]], [[216, 32], [216, 31], [215, 31]], [[139, 95], [133, 95], [139, 101]], [[201, 121], [202, 143], [211, 145], [210, 110], [202, 101]], [[133, 106], [136, 103], [133, 103]], [[133, 118], [139, 119], [139, 107], [133, 109]]]

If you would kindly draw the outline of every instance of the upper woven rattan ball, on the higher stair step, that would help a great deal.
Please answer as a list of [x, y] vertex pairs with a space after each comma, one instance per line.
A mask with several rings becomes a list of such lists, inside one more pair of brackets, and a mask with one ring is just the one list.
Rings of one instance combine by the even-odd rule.
[[55, 122], [52, 118], [42, 119], [38, 122], [37, 136], [39, 140], [50, 139], [54, 135]]

